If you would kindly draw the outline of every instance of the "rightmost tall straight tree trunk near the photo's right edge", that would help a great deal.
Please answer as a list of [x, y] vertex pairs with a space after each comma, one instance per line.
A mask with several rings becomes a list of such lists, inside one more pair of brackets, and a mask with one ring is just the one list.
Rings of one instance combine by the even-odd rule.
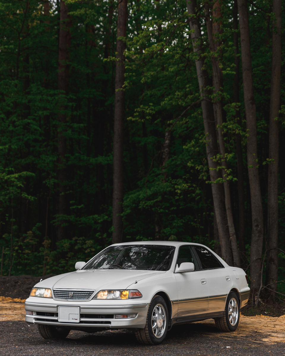
[[273, 0], [272, 70], [269, 116], [269, 167], [268, 167], [268, 254], [267, 283], [273, 290], [271, 299], [275, 299], [278, 280], [278, 159], [279, 133], [278, 117], [280, 106], [281, 78], [281, 1]]

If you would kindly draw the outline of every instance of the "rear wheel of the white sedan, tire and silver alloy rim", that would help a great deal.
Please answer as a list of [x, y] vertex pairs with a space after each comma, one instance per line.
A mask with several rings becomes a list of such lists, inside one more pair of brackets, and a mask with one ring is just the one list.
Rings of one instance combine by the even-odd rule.
[[239, 323], [239, 300], [235, 292], [230, 292], [222, 318], [216, 318], [215, 324], [221, 331], [235, 331]]

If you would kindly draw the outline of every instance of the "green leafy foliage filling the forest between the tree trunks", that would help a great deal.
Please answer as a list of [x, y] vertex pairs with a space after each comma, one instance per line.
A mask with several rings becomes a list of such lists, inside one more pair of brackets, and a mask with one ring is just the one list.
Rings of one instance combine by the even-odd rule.
[[[113, 117], [118, 2], [66, 0], [71, 17], [67, 91], [58, 89], [59, 8], [52, 2], [0, 1], [0, 256], [2, 274], [71, 271], [112, 241]], [[209, 100], [222, 101], [226, 155], [236, 230], [240, 225], [237, 140], [244, 175], [245, 258], [250, 246], [247, 183], [248, 131], [241, 65], [235, 63], [232, 2], [222, 2], [219, 48], [211, 53], [198, 2]], [[211, 5], [211, 3], [210, 3]], [[266, 196], [271, 79], [272, 10], [268, 1], [250, 5], [251, 54], [257, 107], [258, 162]], [[124, 241], [201, 242], [219, 251], [207, 164], [201, 98], [185, 1], [129, 2], [125, 51]], [[283, 11], [283, 14], [285, 12]], [[284, 22], [284, 16], [283, 16]], [[68, 21], [67, 21], [68, 22]], [[283, 26], [284, 28], [284, 26]], [[123, 38], [120, 38], [123, 39]], [[284, 42], [284, 36], [283, 40]], [[284, 43], [283, 43], [284, 45]], [[239, 51], [240, 53], [240, 51]], [[240, 54], [238, 53], [238, 58]], [[284, 52], [282, 53], [284, 62]], [[211, 57], [219, 59], [223, 86], [213, 93]], [[239, 102], [234, 75], [239, 74]], [[281, 74], [284, 98], [284, 71]], [[283, 100], [283, 99], [282, 99]], [[280, 108], [284, 151], [285, 105]], [[59, 120], [64, 116], [66, 120]], [[217, 127], [218, 129], [218, 127]], [[165, 159], [165, 133], [171, 132]], [[59, 160], [60, 135], [65, 142]], [[279, 235], [285, 233], [284, 164], [280, 155]], [[261, 164], [262, 163], [262, 164]], [[268, 163], [268, 164], [267, 164]], [[64, 179], [60, 173], [64, 172]], [[61, 193], [59, 188], [63, 187]], [[66, 211], [59, 213], [59, 196]], [[64, 228], [59, 237], [58, 229]], [[240, 236], [238, 236], [238, 239]], [[244, 252], [244, 251], [243, 251]], [[284, 256], [280, 252], [280, 273]]]

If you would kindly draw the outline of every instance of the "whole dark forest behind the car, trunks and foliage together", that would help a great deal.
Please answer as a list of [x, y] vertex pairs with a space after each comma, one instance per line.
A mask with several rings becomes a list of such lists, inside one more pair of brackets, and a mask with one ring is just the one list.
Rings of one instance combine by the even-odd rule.
[[198, 242], [285, 294], [285, 1], [0, 1], [1, 275]]

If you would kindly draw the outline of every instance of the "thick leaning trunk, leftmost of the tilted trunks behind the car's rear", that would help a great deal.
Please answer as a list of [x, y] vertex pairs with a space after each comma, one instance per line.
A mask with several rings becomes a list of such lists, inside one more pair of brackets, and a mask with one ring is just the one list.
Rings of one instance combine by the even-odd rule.
[[222, 257], [227, 263], [231, 263], [231, 251], [228, 239], [228, 229], [227, 229], [227, 219], [226, 212], [224, 208], [224, 192], [221, 183], [215, 183], [217, 179], [221, 178], [221, 174], [218, 171], [217, 162], [214, 161], [214, 157], [218, 154], [217, 137], [216, 137], [216, 126], [214, 122], [213, 115], [213, 105], [209, 99], [209, 93], [207, 87], [209, 85], [207, 72], [203, 69], [203, 57], [201, 54], [201, 27], [199, 25], [196, 16], [196, 1], [186, 0], [187, 10], [190, 17], [190, 28], [191, 28], [191, 39], [193, 45], [193, 52], [196, 54], [197, 58], [195, 60], [196, 71], [199, 83], [199, 90], [201, 95], [201, 106], [202, 115], [204, 122], [204, 130], [206, 135], [206, 150], [207, 150], [207, 160], [209, 166], [210, 180], [212, 182], [212, 195], [214, 210], [216, 213], [217, 226], [219, 231], [219, 241], [221, 244]]

